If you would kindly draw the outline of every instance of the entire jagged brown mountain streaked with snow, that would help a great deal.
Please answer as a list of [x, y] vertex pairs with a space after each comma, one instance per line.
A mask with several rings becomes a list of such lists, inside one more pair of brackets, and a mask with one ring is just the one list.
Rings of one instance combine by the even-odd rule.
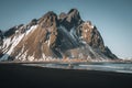
[[117, 59], [90, 21], [77, 9], [59, 15], [48, 11], [40, 19], [0, 31], [0, 61], [53, 58]]

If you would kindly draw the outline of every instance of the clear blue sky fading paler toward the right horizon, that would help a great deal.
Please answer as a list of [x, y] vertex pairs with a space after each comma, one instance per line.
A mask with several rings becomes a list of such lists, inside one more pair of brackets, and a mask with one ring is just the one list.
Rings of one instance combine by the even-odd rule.
[[132, 0], [0, 0], [0, 30], [26, 24], [48, 11], [59, 14], [72, 8], [98, 28], [113, 54], [132, 57]]

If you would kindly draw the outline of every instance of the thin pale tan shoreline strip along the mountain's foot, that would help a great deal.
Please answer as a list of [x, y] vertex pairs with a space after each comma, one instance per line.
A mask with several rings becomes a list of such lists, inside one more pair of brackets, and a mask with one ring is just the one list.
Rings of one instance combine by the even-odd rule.
[[66, 59], [47, 59], [47, 61], [2, 61], [0, 63], [12, 63], [12, 64], [43, 64], [43, 63], [64, 63], [64, 64], [68, 64], [68, 63], [132, 63], [132, 61], [123, 61], [123, 59], [103, 59], [103, 61], [97, 61], [97, 59], [70, 59], [70, 58], [66, 58]]

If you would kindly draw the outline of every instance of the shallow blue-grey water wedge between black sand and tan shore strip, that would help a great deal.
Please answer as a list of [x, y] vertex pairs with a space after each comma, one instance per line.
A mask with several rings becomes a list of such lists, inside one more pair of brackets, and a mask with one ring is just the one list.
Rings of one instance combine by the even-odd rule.
[[50, 68], [72, 68], [86, 70], [103, 70], [132, 74], [132, 63], [77, 63], [77, 64], [24, 64]]

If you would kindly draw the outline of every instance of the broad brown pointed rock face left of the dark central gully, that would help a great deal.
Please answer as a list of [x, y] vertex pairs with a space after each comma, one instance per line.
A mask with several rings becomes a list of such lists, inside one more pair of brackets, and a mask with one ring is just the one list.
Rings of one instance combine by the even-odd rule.
[[[57, 57], [55, 46], [57, 40], [57, 15], [54, 12], [48, 12], [38, 20], [26, 38], [23, 38], [14, 48], [12, 56], [16, 56], [20, 52], [26, 53], [26, 59], [45, 58], [45, 56]], [[29, 57], [28, 57], [29, 56]], [[22, 56], [20, 55], [22, 58]]]

